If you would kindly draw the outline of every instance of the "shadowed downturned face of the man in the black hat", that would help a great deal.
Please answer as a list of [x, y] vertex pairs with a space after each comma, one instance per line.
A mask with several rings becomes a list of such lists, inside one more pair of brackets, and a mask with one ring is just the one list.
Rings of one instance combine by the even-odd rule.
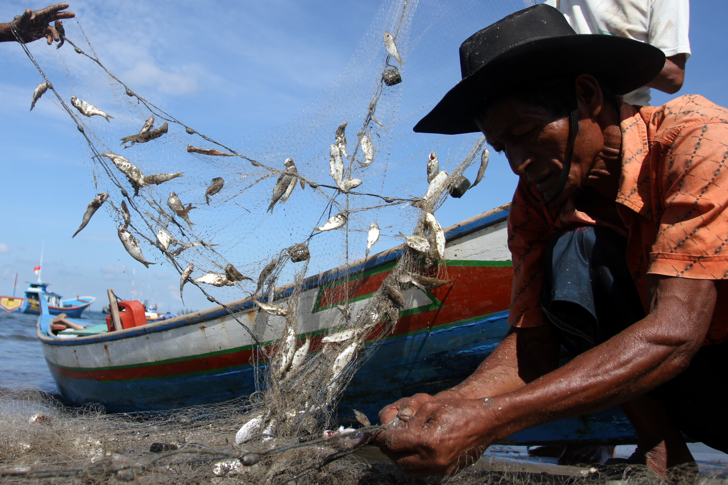
[[[585, 127], [584, 121], [579, 126], [569, 181], [559, 201], [568, 198], [582, 185], [601, 149], [600, 140], [584, 140], [582, 128], [591, 128]], [[570, 148], [566, 116], [554, 116], [546, 108], [510, 97], [488, 108], [486, 113], [476, 117], [475, 122], [488, 143], [496, 151], [505, 152], [513, 173], [529, 180], [546, 199], [555, 194]]]

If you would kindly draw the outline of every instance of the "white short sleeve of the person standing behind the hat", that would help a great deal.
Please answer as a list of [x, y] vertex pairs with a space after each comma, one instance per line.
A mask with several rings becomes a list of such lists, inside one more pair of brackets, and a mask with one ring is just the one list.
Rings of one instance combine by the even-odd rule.
[[689, 0], [653, 0], [649, 16], [649, 43], [665, 52], [666, 57], [685, 54], [690, 57]]

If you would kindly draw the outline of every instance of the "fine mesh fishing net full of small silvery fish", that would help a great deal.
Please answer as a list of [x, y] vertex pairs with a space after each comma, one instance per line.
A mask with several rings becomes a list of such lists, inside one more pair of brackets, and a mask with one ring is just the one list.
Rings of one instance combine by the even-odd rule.
[[[392, 465], [374, 470], [351, 456], [377, 428], [366, 417], [364, 428], [326, 430], [352, 375], [396, 324], [403, 293], [448, 281], [435, 212], [467, 188], [462, 175], [486, 148], [479, 134], [412, 132], [454, 82], [439, 66], [456, 61], [465, 36], [523, 7], [384, 1], [344, 70], [294, 119], [227, 141], [124, 84], [76, 21], [66, 23], [61, 49], [24, 46], [50, 83], [38, 103], [55, 103], [76, 125], [95, 191], [108, 194], [98, 203], [127, 251], [172, 266], [184, 291], [229, 310], [255, 345], [258, 391], [223, 404], [111, 415], [7, 391], [4, 468], [17, 480], [403, 483]], [[353, 301], [362, 280], [347, 268], [376, 252], [380, 238], [379, 247], [402, 244], [400, 257], [372, 297]], [[329, 295], [341, 304], [317, 328], [302, 328], [301, 312], [310, 311], [304, 282], [331, 268], [344, 268], [349, 281]], [[256, 302], [253, 320], [226, 305], [245, 297]], [[326, 334], [317, 347], [313, 331]], [[166, 445], [150, 451], [151, 442]], [[472, 481], [485, 480], [478, 473]]]

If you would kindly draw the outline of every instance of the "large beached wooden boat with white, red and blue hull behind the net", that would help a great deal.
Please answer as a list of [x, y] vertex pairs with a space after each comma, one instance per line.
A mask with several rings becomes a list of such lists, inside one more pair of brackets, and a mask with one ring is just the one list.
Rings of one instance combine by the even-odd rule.
[[[506, 245], [506, 205], [446, 229], [448, 278], [430, 292], [412, 287], [394, 332], [353, 377], [339, 417], [359, 409], [376, 417], [382, 406], [414, 393], [436, 393], [460, 382], [505, 337], [513, 266]], [[400, 247], [306, 278], [299, 296], [298, 328], [314, 344], [328, 329], [329, 312], [349, 285], [352, 313], [365, 305], [394, 267]], [[277, 289], [280, 302], [292, 286]], [[45, 306], [44, 300], [41, 304]], [[258, 315], [248, 299], [227, 304], [261, 342], [280, 338], [282, 317]], [[261, 318], [262, 317], [262, 318]], [[250, 335], [221, 306], [116, 332], [49, 333], [50, 316], [37, 334], [60, 393], [71, 404], [90, 402], [110, 412], [173, 409], [253, 393], [256, 350]], [[256, 324], [257, 322], [257, 324]], [[59, 334], [59, 336], [60, 336]], [[523, 430], [511, 444], [636, 443], [618, 408]]]

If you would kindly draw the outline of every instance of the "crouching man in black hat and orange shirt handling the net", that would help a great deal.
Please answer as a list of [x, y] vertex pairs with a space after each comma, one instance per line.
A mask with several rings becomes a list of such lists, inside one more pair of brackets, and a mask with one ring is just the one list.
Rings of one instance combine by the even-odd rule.
[[[665, 55], [576, 35], [545, 4], [460, 47], [462, 81], [416, 132], [483, 132], [520, 177], [508, 217], [512, 329], [460, 385], [381, 410], [376, 444], [451, 473], [520, 430], [620, 405], [629, 462], [728, 452], [728, 110], [699, 95], [622, 103]], [[574, 354], [558, 367], [560, 346]], [[674, 470], [674, 469], [673, 469]]]

